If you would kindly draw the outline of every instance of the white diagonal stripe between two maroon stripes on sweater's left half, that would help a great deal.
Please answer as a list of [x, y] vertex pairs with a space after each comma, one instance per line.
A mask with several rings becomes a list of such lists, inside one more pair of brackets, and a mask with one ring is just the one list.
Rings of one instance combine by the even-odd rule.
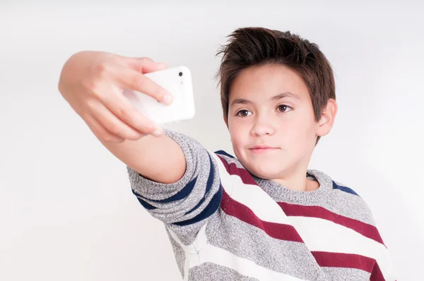
[[[215, 155], [215, 154], [213, 154]], [[276, 222], [291, 225], [287, 215], [280, 205], [271, 198], [260, 186], [243, 183], [237, 174], [228, 174], [223, 162], [216, 156], [223, 188], [235, 201], [246, 205], [259, 219], [265, 222]]]

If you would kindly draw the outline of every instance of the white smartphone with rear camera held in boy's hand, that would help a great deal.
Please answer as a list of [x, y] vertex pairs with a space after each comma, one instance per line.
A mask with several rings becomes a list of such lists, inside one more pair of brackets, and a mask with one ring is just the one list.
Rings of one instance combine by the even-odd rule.
[[187, 66], [167, 68], [144, 75], [174, 97], [172, 104], [166, 105], [143, 92], [124, 90], [124, 95], [148, 119], [157, 124], [168, 124], [194, 117], [192, 74]]

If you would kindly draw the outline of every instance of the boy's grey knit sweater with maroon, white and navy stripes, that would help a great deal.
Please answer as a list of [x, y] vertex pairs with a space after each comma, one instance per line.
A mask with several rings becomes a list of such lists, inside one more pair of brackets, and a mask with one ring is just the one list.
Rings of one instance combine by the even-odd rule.
[[131, 189], [165, 225], [183, 280], [389, 280], [391, 258], [352, 189], [308, 169], [314, 191], [255, 177], [237, 158], [165, 130], [182, 148], [182, 179], [127, 167]]

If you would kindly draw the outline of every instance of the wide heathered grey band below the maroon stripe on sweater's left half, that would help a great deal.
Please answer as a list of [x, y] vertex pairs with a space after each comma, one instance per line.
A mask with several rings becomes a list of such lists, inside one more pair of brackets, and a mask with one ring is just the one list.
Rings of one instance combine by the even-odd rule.
[[219, 217], [213, 216], [208, 222], [208, 244], [279, 273], [305, 280], [326, 280], [305, 244], [269, 237], [262, 229], [222, 210], [219, 213]]

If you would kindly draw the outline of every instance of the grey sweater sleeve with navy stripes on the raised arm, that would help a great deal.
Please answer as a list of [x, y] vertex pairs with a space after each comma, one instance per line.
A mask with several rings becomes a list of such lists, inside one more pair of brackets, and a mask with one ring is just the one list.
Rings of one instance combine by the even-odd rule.
[[127, 167], [132, 192], [141, 205], [165, 225], [196, 224], [196, 228], [200, 228], [220, 205], [222, 188], [218, 165], [212, 154], [194, 138], [166, 129], [164, 133], [182, 148], [187, 162], [184, 175], [175, 183], [162, 184]]

